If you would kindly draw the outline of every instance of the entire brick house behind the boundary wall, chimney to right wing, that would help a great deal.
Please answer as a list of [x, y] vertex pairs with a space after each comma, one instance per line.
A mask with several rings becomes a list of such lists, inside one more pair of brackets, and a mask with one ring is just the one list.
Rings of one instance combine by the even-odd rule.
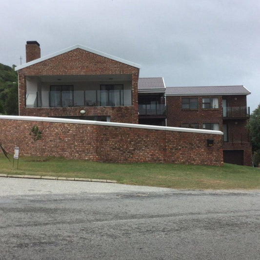
[[79, 44], [40, 57], [37, 41], [16, 70], [20, 116], [220, 130], [224, 162], [251, 164], [243, 86], [165, 87], [139, 78], [140, 65]]

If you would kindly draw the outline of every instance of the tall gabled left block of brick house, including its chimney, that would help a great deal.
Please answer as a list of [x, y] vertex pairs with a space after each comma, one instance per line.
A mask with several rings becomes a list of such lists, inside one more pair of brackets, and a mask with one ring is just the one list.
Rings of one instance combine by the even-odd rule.
[[79, 44], [40, 57], [27, 41], [19, 115], [138, 123], [140, 65]]

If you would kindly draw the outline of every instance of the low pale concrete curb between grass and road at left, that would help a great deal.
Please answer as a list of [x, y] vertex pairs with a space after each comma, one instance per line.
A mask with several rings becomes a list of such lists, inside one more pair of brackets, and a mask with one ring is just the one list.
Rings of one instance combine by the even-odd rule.
[[15, 175], [15, 174], [0, 174], [0, 177], [23, 178], [23, 179], [42, 179], [42, 180], [74, 180], [74, 181], [108, 182], [108, 183], [116, 183], [117, 182], [117, 180], [99, 180], [99, 179], [38, 176], [38, 175]]

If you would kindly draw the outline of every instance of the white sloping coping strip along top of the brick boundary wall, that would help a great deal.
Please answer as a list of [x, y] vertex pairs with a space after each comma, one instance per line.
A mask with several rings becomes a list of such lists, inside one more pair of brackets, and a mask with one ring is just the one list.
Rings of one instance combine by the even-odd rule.
[[101, 122], [101, 121], [79, 120], [79, 119], [65, 119], [65, 118], [61, 119], [61, 118], [27, 117], [27, 116], [0, 116], [0, 119], [40, 121], [40, 122], [53, 122], [53, 123], [94, 124], [94, 125], [106, 125], [106, 126], [118, 126], [118, 127], [144, 128], [144, 129], [152, 129], [152, 130], [164, 130], [164, 131], [173, 131], [173, 132], [223, 135], [221, 131], [215, 131], [215, 130], [191, 129], [191, 128], [182, 128], [182, 127], [169, 127], [169, 126], [154, 126], [154, 125], [146, 125], [146, 124]]

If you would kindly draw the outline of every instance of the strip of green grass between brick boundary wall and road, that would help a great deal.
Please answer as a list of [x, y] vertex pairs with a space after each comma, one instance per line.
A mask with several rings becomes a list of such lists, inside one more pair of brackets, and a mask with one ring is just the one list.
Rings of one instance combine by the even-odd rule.
[[[12, 156], [10, 156], [12, 157]], [[118, 183], [176, 189], [259, 189], [260, 169], [159, 163], [103, 163], [64, 158], [21, 157], [19, 169], [2, 154], [0, 173], [117, 180]]]

